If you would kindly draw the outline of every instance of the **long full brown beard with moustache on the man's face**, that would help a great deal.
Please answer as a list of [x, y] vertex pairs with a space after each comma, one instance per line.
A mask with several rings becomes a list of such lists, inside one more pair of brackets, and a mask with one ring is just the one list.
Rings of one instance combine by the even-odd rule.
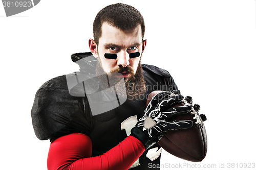
[[[120, 76], [123, 71], [126, 71], [130, 76], [126, 78], [118, 77], [117, 74]], [[103, 70], [100, 57], [98, 57], [96, 75], [104, 89], [114, 86], [114, 89], [108, 89], [109, 92], [118, 93], [122, 98], [127, 96], [127, 99], [129, 100], [141, 99], [141, 95], [144, 95], [147, 90], [141, 66], [141, 59], [136, 72], [131, 66], [119, 66], [117, 69], [113, 69], [109, 73], [106, 73]], [[105, 79], [105, 76], [108, 80]], [[124, 80], [125, 88], [122, 83], [120, 83], [123, 82], [122, 79]]]

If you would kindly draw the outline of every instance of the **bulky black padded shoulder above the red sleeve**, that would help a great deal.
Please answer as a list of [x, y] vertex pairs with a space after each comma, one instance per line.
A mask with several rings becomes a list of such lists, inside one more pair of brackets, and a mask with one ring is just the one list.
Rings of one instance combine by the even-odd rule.
[[91, 115], [84, 98], [69, 93], [66, 76], [53, 78], [36, 92], [31, 110], [32, 124], [40, 140], [70, 133], [90, 136]]

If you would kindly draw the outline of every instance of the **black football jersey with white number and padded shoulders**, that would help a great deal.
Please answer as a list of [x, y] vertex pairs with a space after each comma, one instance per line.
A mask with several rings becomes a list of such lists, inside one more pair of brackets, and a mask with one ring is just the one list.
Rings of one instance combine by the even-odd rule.
[[[87, 53], [86, 57], [89, 56]], [[73, 55], [79, 58], [79, 55]], [[139, 99], [126, 100], [110, 111], [93, 115], [86, 96], [70, 94], [67, 76], [51, 79], [43, 84], [35, 95], [31, 111], [36, 136], [40, 140], [53, 139], [71, 133], [90, 136], [93, 145], [92, 157], [102, 155], [115, 147], [144, 115], [146, 98], [155, 90], [177, 90], [169, 72], [153, 65], [142, 64], [147, 86], [146, 93]], [[83, 68], [80, 66], [80, 71]], [[132, 169], [153, 169], [149, 163], [160, 164], [160, 149], [156, 143], [145, 151]], [[159, 169], [159, 168], [156, 168]]]

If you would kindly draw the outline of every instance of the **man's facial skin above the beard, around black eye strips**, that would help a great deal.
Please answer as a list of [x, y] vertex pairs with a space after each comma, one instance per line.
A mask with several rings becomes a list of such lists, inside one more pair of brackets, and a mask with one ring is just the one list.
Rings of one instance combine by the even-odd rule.
[[[102, 34], [99, 38], [99, 44], [96, 47], [94, 57], [99, 58], [101, 66], [105, 72], [113, 72], [120, 67], [129, 67], [136, 73], [140, 57], [130, 59], [130, 53], [143, 53], [146, 41], [142, 43], [141, 27], [137, 26], [132, 31], [122, 31], [118, 28], [102, 24]], [[117, 59], [108, 59], [104, 57], [105, 53], [117, 54]], [[128, 78], [131, 74], [127, 71], [122, 71], [124, 78]]]

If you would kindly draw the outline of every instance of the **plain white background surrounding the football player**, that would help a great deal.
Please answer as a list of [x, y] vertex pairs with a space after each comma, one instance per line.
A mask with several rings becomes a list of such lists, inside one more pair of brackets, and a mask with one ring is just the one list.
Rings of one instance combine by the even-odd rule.
[[35, 92], [51, 78], [78, 71], [71, 54], [89, 51], [94, 17], [117, 2], [144, 16], [142, 63], [167, 69], [207, 116], [206, 158], [194, 163], [164, 152], [161, 163], [255, 163], [254, 0], [41, 0], [11, 17], [0, 5], [2, 167], [47, 169], [50, 142], [37, 139], [31, 123]]

